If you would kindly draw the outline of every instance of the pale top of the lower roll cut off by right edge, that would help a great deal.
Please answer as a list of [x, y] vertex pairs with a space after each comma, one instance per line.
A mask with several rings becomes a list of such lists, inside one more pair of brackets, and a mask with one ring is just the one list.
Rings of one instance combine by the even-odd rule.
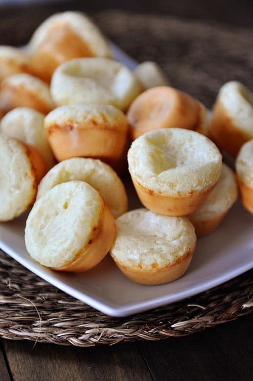
[[236, 158], [236, 172], [245, 185], [253, 188], [253, 139], [241, 147]]

